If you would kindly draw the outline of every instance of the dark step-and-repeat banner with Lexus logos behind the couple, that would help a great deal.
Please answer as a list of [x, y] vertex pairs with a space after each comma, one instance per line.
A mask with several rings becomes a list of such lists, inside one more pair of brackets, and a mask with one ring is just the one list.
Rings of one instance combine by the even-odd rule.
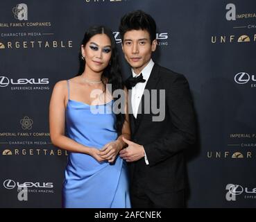
[[67, 152], [49, 137], [53, 86], [76, 76], [94, 24], [112, 29], [127, 78], [118, 26], [137, 9], [157, 23], [155, 62], [193, 94], [187, 206], [256, 207], [255, 0], [0, 1], [0, 207], [61, 207]]

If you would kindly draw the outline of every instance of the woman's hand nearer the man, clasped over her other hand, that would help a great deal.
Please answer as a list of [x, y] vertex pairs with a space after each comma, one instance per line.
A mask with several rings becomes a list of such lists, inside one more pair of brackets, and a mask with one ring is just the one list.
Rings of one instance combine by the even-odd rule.
[[100, 157], [104, 160], [108, 160], [108, 162], [112, 163], [116, 159], [119, 151], [121, 151], [122, 145], [119, 141], [110, 142], [108, 144], [105, 144], [100, 152]]

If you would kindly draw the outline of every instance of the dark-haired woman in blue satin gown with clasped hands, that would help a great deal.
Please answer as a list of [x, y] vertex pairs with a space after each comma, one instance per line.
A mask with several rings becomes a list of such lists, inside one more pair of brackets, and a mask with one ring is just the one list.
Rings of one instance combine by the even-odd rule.
[[[127, 166], [119, 157], [121, 137], [130, 139], [128, 92], [108, 28], [88, 29], [80, 62], [78, 76], [56, 83], [49, 108], [51, 141], [69, 151], [62, 206], [130, 207]], [[116, 89], [124, 96], [114, 98]], [[114, 112], [120, 99], [123, 109]]]

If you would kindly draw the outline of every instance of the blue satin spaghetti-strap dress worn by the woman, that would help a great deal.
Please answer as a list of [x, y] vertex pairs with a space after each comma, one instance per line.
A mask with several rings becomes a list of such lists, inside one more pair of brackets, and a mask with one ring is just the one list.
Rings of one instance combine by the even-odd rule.
[[[69, 96], [69, 80], [67, 85]], [[117, 139], [112, 103], [88, 105], [69, 99], [66, 109], [67, 137], [98, 149]], [[102, 114], [100, 111], [103, 110], [105, 112]], [[90, 155], [69, 152], [62, 206], [130, 208], [126, 162], [119, 156], [114, 164], [97, 162]]]

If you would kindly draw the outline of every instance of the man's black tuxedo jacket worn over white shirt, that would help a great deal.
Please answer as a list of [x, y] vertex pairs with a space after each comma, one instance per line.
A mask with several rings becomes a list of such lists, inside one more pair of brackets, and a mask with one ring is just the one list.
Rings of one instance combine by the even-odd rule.
[[152, 110], [144, 113], [144, 105], [153, 102], [145, 95], [139, 105], [142, 113], [137, 114], [137, 119], [130, 114], [132, 140], [144, 146], [149, 161], [149, 165], [144, 158], [128, 164], [131, 187], [139, 186], [155, 194], [179, 191], [185, 188], [183, 151], [194, 144], [196, 138], [189, 84], [181, 74], [155, 64], [145, 89], [157, 89], [157, 92], [165, 89], [165, 118], [153, 121], [152, 117], [157, 114]]

